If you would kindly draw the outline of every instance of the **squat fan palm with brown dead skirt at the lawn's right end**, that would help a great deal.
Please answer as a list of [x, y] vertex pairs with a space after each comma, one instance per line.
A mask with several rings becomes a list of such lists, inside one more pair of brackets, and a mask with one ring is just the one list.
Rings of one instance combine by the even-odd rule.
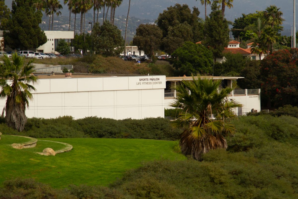
[[174, 128], [183, 128], [179, 145], [184, 155], [202, 160], [202, 154], [211, 149], [227, 148], [225, 136], [235, 132], [230, 119], [232, 109], [241, 107], [234, 100], [227, 100], [232, 87], [218, 91], [221, 80], [193, 76], [193, 81], [182, 81], [173, 88], [177, 97], [172, 107], [180, 108]]

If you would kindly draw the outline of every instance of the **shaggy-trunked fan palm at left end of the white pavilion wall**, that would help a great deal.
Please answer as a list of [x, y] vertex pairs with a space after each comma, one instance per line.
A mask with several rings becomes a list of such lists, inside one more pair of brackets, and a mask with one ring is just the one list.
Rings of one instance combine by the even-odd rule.
[[0, 64], [0, 98], [6, 100], [5, 105], [5, 124], [8, 127], [22, 131], [27, 122], [25, 115], [26, 106], [33, 96], [30, 91], [35, 88], [30, 84], [37, 84], [38, 78], [31, 75], [34, 72], [33, 60], [24, 64], [24, 57], [17, 53], [12, 55], [12, 61], [7, 56], [1, 58]]

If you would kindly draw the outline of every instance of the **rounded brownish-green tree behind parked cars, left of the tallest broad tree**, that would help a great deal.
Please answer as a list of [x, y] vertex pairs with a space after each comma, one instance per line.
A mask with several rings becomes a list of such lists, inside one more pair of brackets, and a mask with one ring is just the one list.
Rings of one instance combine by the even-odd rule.
[[154, 51], [159, 50], [162, 41], [162, 30], [153, 24], [140, 24], [136, 29], [136, 35], [133, 44], [139, 50], [143, 50], [146, 54], [154, 55]]

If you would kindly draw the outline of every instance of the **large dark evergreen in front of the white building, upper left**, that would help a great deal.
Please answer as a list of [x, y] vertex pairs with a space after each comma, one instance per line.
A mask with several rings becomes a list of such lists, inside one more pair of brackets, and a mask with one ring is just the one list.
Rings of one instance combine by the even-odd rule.
[[42, 13], [36, 10], [33, 0], [15, 0], [12, 4], [11, 18], [4, 31], [5, 44], [11, 48], [27, 50], [46, 43], [46, 35], [41, 31]]

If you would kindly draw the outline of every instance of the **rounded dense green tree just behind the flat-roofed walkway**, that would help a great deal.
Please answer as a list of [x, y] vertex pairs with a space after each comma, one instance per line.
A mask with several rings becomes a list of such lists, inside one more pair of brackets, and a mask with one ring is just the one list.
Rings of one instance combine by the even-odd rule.
[[201, 44], [187, 41], [172, 53], [172, 57], [173, 67], [179, 71], [181, 76], [212, 72], [212, 52]]

